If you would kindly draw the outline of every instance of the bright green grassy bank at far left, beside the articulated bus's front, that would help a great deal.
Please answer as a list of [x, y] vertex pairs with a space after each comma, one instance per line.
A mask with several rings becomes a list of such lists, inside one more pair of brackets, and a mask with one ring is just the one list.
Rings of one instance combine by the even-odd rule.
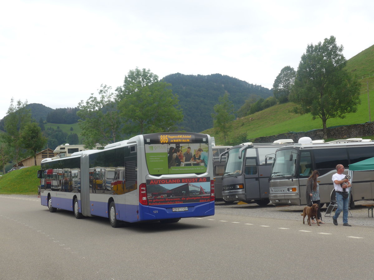
[[37, 195], [40, 179], [37, 171], [40, 166], [32, 166], [11, 171], [0, 177], [0, 194]]

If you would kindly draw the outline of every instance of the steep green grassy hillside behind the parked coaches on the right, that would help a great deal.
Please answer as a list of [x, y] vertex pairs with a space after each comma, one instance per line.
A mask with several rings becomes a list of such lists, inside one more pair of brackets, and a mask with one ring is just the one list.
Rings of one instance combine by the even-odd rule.
[[[357, 80], [361, 83], [361, 105], [358, 106], [356, 113], [347, 114], [344, 119], [329, 119], [327, 121], [328, 127], [374, 121], [374, 45], [349, 59], [346, 69], [356, 75]], [[369, 117], [368, 88], [371, 118]], [[293, 106], [295, 106], [293, 103], [280, 104], [233, 121], [229, 139], [234, 139], [237, 135], [243, 133], [246, 133], [248, 139], [255, 139], [288, 131], [299, 132], [322, 128], [321, 119], [313, 121], [310, 114], [297, 115], [290, 113]], [[224, 144], [223, 139], [215, 133], [213, 128], [205, 130], [204, 133], [214, 136], [216, 144]], [[297, 140], [294, 139], [294, 141]]]

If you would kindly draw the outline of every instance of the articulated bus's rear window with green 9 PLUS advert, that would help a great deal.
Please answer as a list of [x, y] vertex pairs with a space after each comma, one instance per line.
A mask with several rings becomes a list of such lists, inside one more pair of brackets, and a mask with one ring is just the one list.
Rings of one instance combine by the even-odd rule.
[[149, 174], [187, 174], [206, 172], [207, 143], [145, 144]]

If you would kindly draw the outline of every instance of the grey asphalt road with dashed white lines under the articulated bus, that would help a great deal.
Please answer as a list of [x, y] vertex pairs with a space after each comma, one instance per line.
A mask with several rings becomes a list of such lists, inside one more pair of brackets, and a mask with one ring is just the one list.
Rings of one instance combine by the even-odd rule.
[[217, 203], [212, 217], [112, 228], [0, 195], [0, 279], [373, 279], [372, 226], [279, 209]]

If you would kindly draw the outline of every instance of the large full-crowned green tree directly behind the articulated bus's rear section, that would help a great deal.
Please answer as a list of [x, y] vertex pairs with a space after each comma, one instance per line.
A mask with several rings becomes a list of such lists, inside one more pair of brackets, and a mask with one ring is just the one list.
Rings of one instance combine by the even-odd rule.
[[118, 105], [125, 134], [178, 129], [177, 124], [183, 119], [178, 96], [172, 93], [171, 84], [157, 80], [157, 75], [138, 68], [125, 77]]

